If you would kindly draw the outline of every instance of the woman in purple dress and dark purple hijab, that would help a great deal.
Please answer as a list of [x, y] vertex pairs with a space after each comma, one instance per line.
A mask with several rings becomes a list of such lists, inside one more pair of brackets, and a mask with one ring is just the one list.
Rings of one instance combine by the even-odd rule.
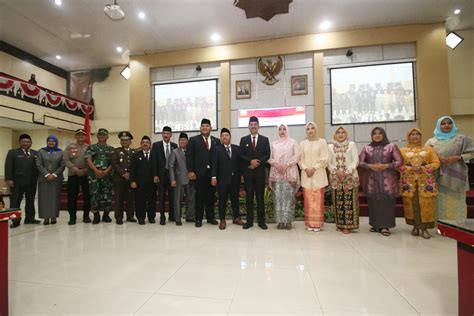
[[371, 232], [390, 236], [395, 227], [395, 202], [398, 197], [396, 169], [402, 164], [400, 150], [387, 139], [385, 130], [376, 127], [371, 133], [372, 142], [359, 156], [360, 166], [366, 169], [364, 193], [369, 205]]

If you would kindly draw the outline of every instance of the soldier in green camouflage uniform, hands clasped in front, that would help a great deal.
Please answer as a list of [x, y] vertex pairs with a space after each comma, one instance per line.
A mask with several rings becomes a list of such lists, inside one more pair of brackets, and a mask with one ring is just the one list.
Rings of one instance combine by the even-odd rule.
[[89, 187], [91, 193], [91, 210], [94, 213], [92, 224], [100, 222], [99, 210], [104, 211], [102, 221], [110, 223], [109, 216], [112, 207], [112, 152], [114, 148], [107, 145], [109, 131], [99, 128], [97, 132], [97, 144], [87, 148], [84, 158], [89, 167]]

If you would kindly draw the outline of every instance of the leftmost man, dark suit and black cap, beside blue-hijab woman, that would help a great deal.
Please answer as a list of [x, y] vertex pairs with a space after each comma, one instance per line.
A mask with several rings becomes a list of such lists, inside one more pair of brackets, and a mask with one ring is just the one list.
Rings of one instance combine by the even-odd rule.
[[[38, 170], [35, 159], [37, 152], [31, 150], [31, 137], [22, 134], [19, 138], [20, 148], [8, 151], [5, 159], [5, 180], [11, 188], [10, 208], [19, 208], [23, 195], [25, 195], [25, 224], [38, 224], [35, 219], [35, 195]], [[19, 219], [12, 220], [10, 227], [20, 225]]]

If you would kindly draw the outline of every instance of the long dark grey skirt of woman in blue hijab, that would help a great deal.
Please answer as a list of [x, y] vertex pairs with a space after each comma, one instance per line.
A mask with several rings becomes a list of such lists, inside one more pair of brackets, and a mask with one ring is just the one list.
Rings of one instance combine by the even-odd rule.
[[59, 217], [61, 182], [38, 182], [39, 218]]

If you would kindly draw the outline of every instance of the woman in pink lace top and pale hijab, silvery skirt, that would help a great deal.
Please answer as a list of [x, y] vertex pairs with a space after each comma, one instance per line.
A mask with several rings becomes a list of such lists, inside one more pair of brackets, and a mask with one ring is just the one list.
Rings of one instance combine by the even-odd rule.
[[278, 229], [291, 229], [295, 217], [295, 193], [300, 187], [297, 163], [300, 159], [298, 143], [290, 138], [288, 127], [278, 127], [278, 140], [270, 146], [269, 183], [273, 191], [273, 207]]

